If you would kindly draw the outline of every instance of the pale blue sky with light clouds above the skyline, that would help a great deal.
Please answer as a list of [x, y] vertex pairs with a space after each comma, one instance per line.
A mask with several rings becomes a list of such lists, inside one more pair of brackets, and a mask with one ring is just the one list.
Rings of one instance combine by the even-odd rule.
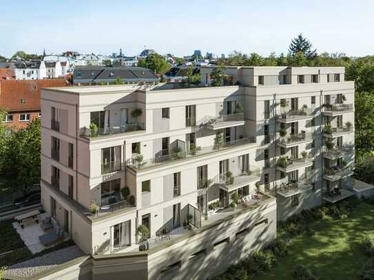
[[[3, 2], [3, 3], [1, 3]], [[302, 33], [318, 52], [374, 54], [374, 1], [0, 1], [0, 55], [126, 56], [144, 47], [176, 56], [238, 50], [287, 53]]]

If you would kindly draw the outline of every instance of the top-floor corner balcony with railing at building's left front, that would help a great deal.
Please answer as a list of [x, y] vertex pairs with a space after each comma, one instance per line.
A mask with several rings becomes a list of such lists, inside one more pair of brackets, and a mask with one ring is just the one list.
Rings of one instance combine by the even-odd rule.
[[118, 127], [105, 127], [105, 128], [95, 128], [90, 129], [87, 127], [83, 127], [80, 129], [81, 137], [85, 138], [96, 138], [100, 136], [110, 136], [116, 135], [119, 133], [126, 133], [132, 131], [145, 131], [145, 127], [143, 122], [132, 123], [128, 125], [118, 126]]

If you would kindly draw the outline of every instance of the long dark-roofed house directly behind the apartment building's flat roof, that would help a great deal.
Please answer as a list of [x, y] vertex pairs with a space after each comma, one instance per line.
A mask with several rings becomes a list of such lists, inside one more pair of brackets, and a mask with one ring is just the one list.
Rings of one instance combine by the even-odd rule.
[[77, 66], [74, 69], [74, 84], [110, 83], [121, 78], [123, 83], [157, 83], [160, 78], [143, 67]]

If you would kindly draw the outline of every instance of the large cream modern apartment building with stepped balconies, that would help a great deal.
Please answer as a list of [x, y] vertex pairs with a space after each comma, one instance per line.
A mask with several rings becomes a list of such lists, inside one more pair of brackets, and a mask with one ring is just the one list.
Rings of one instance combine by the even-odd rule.
[[277, 219], [353, 194], [344, 67], [227, 67], [221, 87], [211, 69], [190, 88], [42, 90], [43, 208], [92, 279], [211, 277]]

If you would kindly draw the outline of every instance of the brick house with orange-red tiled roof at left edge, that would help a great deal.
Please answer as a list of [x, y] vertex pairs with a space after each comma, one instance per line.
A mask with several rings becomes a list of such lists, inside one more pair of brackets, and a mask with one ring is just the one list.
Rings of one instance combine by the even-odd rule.
[[[1, 71], [1, 69], [0, 69]], [[0, 72], [1, 73], [1, 72]], [[3, 121], [8, 129], [22, 129], [40, 116], [43, 87], [66, 87], [65, 79], [0, 80], [0, 107], [8, 114]]]

